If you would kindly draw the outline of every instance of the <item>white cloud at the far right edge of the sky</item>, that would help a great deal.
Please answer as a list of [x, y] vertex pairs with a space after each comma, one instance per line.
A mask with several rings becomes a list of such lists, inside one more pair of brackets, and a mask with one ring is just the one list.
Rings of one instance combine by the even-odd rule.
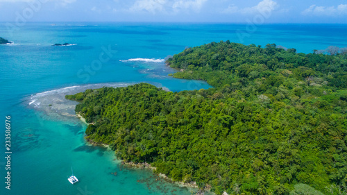
[[312, 5], [302, 12], [303, 15], [320, 15], [320, 16], [339, 16], [347, 15], [347, 4], [341, 4], [337, 7], [316, 6]]

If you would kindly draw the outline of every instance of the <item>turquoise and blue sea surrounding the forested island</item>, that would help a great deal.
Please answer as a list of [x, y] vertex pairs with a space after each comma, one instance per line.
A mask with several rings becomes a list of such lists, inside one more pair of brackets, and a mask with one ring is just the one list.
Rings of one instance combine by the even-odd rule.
[[[110, 149], [85, 142], [86, 124], [66, 94], [151, 83], [164, 90], [199, 90], [203, 81], [167, 76], [164, 59], [187, 46], [230, 40], [276, 43], [310, 53], [347, 46], [347, 25], [27, 23], [0, 37], [0, 194], [192, 194], [146, 169], [121, 166]], [[69, 46], [52, 46], [65, 42]], [[10, 190], [6, 189], [5, 120], [10, 116]], [[67, 178], [80, 180], [71, 185]], [[116, 172], [116, 173], [115, 173]]]

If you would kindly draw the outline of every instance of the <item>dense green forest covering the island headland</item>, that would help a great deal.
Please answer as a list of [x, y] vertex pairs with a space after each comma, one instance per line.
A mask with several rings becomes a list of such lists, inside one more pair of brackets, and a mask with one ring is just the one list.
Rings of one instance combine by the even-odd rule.
[[93, 123], [87, 139], [174, 180], [216, 194], [343, 194], [347, 56], [330, 54], [212, 42], [167, 60], [209, 90], [140, 83], [67, 99]]

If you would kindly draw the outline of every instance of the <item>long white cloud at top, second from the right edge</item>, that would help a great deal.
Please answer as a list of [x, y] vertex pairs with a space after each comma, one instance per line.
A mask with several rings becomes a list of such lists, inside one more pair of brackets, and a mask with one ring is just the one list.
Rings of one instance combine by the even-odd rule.
[[272, 0], [260, 1], [257, 6], [238, 8], [234, 4], [228, 6], [223, 13], [242, 13], [242, 14], [254, 14], [256, 12], [269, 12], [276, 10], [278, 8], [278, 3]]

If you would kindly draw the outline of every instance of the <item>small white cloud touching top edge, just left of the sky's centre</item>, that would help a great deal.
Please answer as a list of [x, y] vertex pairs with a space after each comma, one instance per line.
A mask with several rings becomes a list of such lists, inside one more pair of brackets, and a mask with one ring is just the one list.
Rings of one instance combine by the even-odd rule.
[[166, 3], [166, 0], [139, 0], [135, 1], [134, 5], [131, 6], [129, 10], [133, 12], [146, 10], [155, 14], [155, 12], [163, 11]]

